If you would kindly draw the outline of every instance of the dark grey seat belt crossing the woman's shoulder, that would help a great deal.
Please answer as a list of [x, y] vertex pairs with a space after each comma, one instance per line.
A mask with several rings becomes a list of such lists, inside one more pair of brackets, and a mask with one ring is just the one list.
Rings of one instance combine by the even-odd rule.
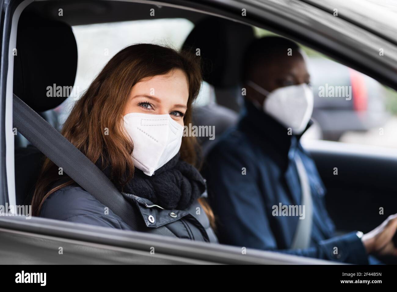
[[12, 107], [17, 131], [133, 230], [141, 231], [138, 212], [91, 160], [15, 94]]

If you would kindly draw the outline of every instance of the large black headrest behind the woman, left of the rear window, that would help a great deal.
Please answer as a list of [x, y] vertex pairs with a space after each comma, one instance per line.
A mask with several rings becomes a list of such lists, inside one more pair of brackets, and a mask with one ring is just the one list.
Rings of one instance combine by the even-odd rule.
[[71, 27], [25, 11], [18, 22], [16, 49], [13, 93], [37, 112], [61, 104], [67, 96], [48, 97], [47, 87], [74, 84], [77, 44]]

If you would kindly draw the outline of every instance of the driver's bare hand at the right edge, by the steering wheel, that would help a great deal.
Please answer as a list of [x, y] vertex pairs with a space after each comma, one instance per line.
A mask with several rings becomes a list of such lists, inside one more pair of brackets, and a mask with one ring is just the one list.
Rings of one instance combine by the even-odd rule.
[[393, 244], [393, 236], [397, 230], [397, 214], [390, 215], [374, 230], [362, 236], [362, 243], [367, 253], [379, 255], [394, 255], [397, 248]]

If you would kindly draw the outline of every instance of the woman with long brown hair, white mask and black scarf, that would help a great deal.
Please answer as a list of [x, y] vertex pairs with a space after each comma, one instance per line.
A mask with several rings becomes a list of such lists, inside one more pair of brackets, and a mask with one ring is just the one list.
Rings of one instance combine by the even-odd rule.
[[[201, 84], [195, 58], [154, 44], [124, 48], [76, 102], [62, 134], [129, 194], [143, 231], [166, 226], [179, 238], [216, 241], [193, 166], [195, 140], [182, 137]], [[131, 229], [49, 159], [32, 208], [35, 216]]]

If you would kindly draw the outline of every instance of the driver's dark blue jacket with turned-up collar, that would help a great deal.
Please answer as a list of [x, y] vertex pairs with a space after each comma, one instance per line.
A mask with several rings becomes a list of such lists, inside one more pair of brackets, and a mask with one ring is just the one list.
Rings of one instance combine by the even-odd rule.
[[[299, 138], [288, 135], [276, 120], [245, 102], [239, 123], [222, 135], [210, 151], [204, 171], [210, 205], [218, 219], [220, 242], [367, 264], [365, 248], [356, 232], [334, 237], [335, 226], [325, 207], [324, 185]], [[274, 205], [301, 204], [294, 155], [299, 155], [304, 163], [313, 201], [310, 247], [299, 250], [290, 249], [299, 216], [272, 215]]]

